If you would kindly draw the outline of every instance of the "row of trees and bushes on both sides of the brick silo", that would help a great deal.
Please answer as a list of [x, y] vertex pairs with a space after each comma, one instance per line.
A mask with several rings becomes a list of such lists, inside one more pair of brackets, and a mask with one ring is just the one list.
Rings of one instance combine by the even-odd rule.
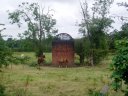
[[[82, 20], [78, 31], [82, 34], [82, 38], [75, 39], [75, 52], [79, 55], [80, 64], [85, 62], [91, 66], [98, 64], [108, 52], [111, 50], [114, 52], [116, 40], [127, 37], [128, 23], [122, 25], [121, 31], [114, 30], [108, 33], [114, 22], [109, 15], [113, 2], [113, 0], [94, 0], [92, 7], [89, 7], [86, 1], [80, 2]], [[19, 40], [13, 38], [3, 40], [5, 45], [14, 51], [34, 51], [38, 57], [44, 52], [51, 52], [52, 40], [58, 33], [52, 11], [49, 8], [45, 11], [38, 3], [28, 2], [23, 2], [13, 12], [8, 11], [10, 23], [19, 27], [26, 23], [27, 30], [19, 34]]]

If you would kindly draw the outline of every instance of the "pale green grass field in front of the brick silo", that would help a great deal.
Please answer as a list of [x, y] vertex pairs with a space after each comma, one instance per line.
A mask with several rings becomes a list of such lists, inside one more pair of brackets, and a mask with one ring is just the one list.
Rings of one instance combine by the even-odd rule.
[[[21, 53], [15, 53], [20, 55]], [[35, 62], [34, 53], [23, 53]], [[51, 54], [46, 54], [46, 62], [51, 62]], [[90, 96], [89, 92], [100, 91], [109, 85], [108, 96], [123, 96], [111, 87], [111, 72], [108, 69], [111, 56], [96, 67], [57, 68], [13, 65], [2, 69], [0, 82], [6, 87], [8, 96]]]

